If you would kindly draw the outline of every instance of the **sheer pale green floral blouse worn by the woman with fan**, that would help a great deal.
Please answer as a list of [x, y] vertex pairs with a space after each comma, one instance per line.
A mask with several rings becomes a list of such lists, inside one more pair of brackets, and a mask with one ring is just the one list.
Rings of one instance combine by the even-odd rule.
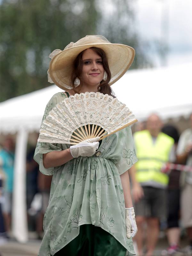
[[[48, 102], [43, 120], [63, 92]], [[43, 122], [42, 120], [42, 122]], [[79, 234], [79, 227], [92, 224], [103, 228], [135, 255], [132, 238], [126, 237], [125, 204], [120, 175], [137, 161], [132, 132], [126, 127], [103, 139], [99, 156], [77, 157], [58, 167], [44, 168], [43, 154], [69, 148], [68, 144], [37, 142], [34, 159], [39, 170], [53, 175], [49, 205], [44, 215], [44, 237], [39, 256], [54, 255]]]

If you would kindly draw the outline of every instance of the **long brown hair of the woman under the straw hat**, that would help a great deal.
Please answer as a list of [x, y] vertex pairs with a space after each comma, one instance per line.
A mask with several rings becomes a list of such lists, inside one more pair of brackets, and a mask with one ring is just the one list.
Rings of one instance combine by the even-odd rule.
[[[98, 86], [98, 92], [101, 92], [103, 94], [108, 94], [115, 98], [115, 94], [112, 91], [110, 85], [108, 84], [109, 81], [111, 80], [111, 72], [109, 69], [108, 60], [107, 60], [107, 56], [106, 56], [105, 52], [102, 49], [97, 48], [97, 47], [91, 47], [90, 49], [92, 49], [94, 52], [96, 52], [102, 58], [103, 68], [104, 68], [106, 76], [107, 76], [106, 80], [103, 79], [100, 82], [100, 85]], [[84, 51], [86, 51], [86, 50], [84, 50]], [[73, 71], [72, 71], [72, 75], [71, 75], [71, 85], [72, 85], [75, 93], [79, 93], [79, 90], [81, 89], [81, 86], [82, 86], [81, 85], [82, 84], [81, 72], [83, 69], [82, 55], [83, 55], [84, 51], [79, 53], [79, 55], [76, 57], [76, 59], [73, 63]], [[79, 80], [80, 85], [78, 87], [75, 87], [77, 79]]]

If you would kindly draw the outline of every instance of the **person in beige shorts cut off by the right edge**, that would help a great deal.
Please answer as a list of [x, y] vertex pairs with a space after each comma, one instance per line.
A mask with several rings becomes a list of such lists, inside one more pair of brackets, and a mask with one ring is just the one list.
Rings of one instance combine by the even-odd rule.
[[[190, 128], [181, 133], [177, 147], [177, 161], [179, 164], [192, 166], [192, 114]], [[181, 220], [187, 229], [189, 246], [184, 250], [186, 255], [192, 255], [192, 172], [181, 174]]]

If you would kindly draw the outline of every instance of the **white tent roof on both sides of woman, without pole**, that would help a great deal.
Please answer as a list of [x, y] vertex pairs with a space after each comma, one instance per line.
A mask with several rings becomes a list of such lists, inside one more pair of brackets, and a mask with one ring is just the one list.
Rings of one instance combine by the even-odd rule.
[[[118, 100], [132, 110], [138, 120], [151, 112], [163, 119], [188, 116], [192, 112], [192, 63], [166, 68], [128, 71], [112, 89]], [[0, 132], [17, 132], [20, 127], [38, 131], [44, 109], [56, 85], [0, 103]]]

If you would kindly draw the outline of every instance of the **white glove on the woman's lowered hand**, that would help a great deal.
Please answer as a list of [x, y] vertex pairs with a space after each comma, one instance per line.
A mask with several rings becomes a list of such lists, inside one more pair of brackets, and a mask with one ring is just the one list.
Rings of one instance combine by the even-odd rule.
[[137, 224], [133, 207], [125, 208], [125, 225], [127, 238], [134, 237], [137, 233]]

